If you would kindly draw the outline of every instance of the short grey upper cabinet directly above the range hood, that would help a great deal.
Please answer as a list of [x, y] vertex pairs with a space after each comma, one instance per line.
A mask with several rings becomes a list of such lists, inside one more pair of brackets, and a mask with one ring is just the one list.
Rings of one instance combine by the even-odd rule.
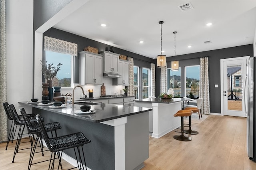
[[119, 54], [109, 51], [101, 51], [103, 54], [103, 71], [106, 73], [118, 73]]

